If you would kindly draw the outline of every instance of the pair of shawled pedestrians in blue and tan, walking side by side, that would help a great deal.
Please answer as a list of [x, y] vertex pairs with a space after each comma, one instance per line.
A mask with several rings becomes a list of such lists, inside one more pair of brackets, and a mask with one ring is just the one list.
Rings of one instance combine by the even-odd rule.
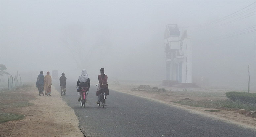
[[43, 71], [40, 71], [40, 74], [37, 77], [36, 88], [38, 88], [39, 96], [41, 96], [41, 94], [43, 96], [51, 96], [52, 77], [50, 76], [49, 71], [46, 73], [45, 77], [43, 73]]

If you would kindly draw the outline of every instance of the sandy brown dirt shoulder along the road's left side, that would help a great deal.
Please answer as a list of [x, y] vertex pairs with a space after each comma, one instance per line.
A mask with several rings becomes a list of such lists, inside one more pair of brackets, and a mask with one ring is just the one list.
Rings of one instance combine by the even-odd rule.
[[[14, 94], [15, 93], [15, 94]], [[34, 105], [10, 106], [13, 96], [18, 95], [19, 102], [27, 100]], [[79, 121], [74, 113], [52, 86], [52, 96], [38, 96], [35, 86], [24, 86], [17, 90], [1, 92], [1, 113], [24, 115], [24, 119], [0, 124], [1, 137], [83, 137], [78, 128]], [[32, 98], [32, 100], [27, 98]], [[19, 103], [17, 102], [17, 103]]]

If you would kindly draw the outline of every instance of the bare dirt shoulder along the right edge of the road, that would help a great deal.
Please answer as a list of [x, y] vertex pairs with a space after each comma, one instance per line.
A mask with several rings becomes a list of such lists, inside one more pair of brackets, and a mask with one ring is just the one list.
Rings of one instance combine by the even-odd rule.
[[[121, 85], [121, 84], [113, 84], [111, 85], [111, 89], [118, 91], [118, 92], [122, 92], [122, 93], [127, 93], [130, 95], [135, 95], [135, 96], [139, 96], [139, 97], [143, 97], [143, 98], [148, 98], [148, 99], [152, 99], [155, 101], [159, 101], [171, 106], [175, 106], [181, 109], [185, 109], [188, 110], [190, 113], [195, 113], [195, 114], [200, 114], [206, 117], [211, 117], [213, 119], [216, 120], [221, 120], [227, 123], [233, 123], [233, 124], [237, 124], [239, 126], [242, 127], [246, 127], [246, 128], [252, 128], [252, 129], [256, 129], [256, 118], [252, 118], [252, 117], [248, 117], [245, 115], [242, 115], [241, 113], [239, 114], [239, 112], [237, 111], [229, 111], [229, 110], [222, 110], [221, 112], [209, 112], [209, 111], [205, 111], [205, 110], [219, 110], [219, 109], [213, 109], [213, 108], [203, 108], [203, 107], [193, 107], [193, 106], [187, 106], [187, 105], [182, 105], [179, 103], [175, 103], [175, 101], [177, 100], [184, 100], [184, 98], [188, 98], [188, 97], [194, 97], [193, 99], [198, 99], [198, 100], [202, 100], [202, 99], [223, 99], [223, 96], [220, 97], [195, 97], [195, 96], [186, 96], [186, 94], [177, 94], [176, 93], [176, 89], [175, 89], [175, 93], [173, 95], [167, 95], [166, 93], [149, 93], [146, 91], [136, 91], [134, 90], [134, 88], [137, 88], [139, 85], [134, 85], [134, 84], [125, 84], [125, 85]], [[151, 85], [150, 85], [151, 86]], [[152, 86], [153, 87], [153, 86]], [[169, 89], [168, 89], [169, 90]], [[181, 89], [179, 89], [181, 90]], [[209, 100], [208, 99], [208, 100]], [[241, 110], [242, 111], [242, 110]]]

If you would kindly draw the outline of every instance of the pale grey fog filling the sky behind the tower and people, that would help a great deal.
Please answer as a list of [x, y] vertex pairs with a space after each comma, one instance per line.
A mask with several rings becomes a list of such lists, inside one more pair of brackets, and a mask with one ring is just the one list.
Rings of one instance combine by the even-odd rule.
[[[252, 3], [1, 0], [0, 64], [10, 74], [17, 70], [24, 76], [35, 74], [34, 81], [40, 71], [58, 70], [59, 75], [65, 72], [67, 78], [77, 78], [82, 69], [93, 81], [100, 68], [111, 80], [162, 81], [165, 27], [177, 24], [181, 34], [188, 30], [191, 38], [193, 83], [204, 77], [210, 85], [247, 89], [250, 65], [250, 85], [255, 91]], [[244, 10], [250, 10], [223, 20], [248, 5]], [[228, 35], [253, 26], [250, 33]]]

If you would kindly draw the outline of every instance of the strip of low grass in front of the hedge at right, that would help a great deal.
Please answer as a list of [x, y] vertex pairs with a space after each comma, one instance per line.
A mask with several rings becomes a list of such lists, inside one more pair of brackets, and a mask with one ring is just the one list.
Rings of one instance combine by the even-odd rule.
[[255, 104], [243, 104], [239, 101], [233, 102], [230, 100], [202, 100], [202, 101], [193, 101], [193, 100], [181, 100], [181, 101], [174, 101], [175, 103], [188, 105], [188, 106], [195, 106], [195, 107], [204, 107], [204, 108], [235, 108], [235, 109], [244, 109], [247, 111], [256, 111]]

